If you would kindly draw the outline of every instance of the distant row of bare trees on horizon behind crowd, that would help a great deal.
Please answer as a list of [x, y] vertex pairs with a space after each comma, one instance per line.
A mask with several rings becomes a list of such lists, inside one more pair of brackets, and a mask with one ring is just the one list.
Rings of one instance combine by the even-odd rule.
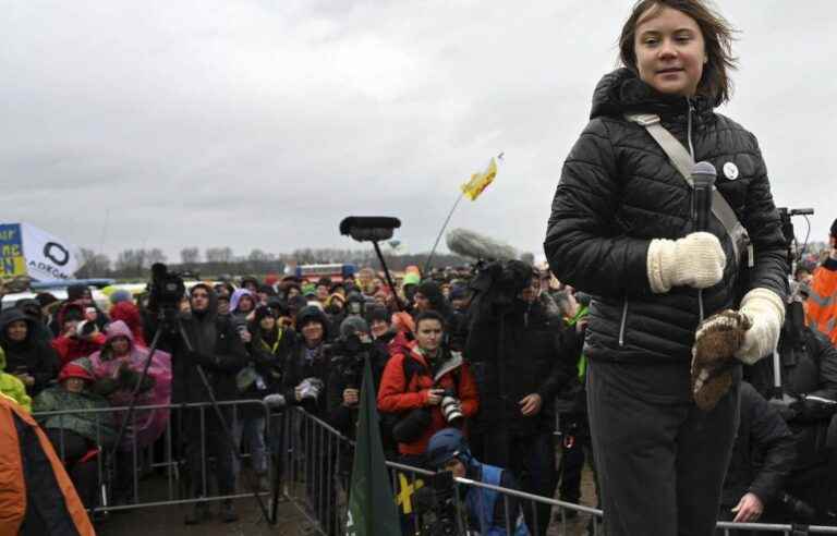
[[[387, 267], [402, 271], [411, 265], [424, 268], [427, 254], [396, 255], [384, 252]], [[266, 253], [253, 249], [248, 255], [236, 256], [230, 247], [209, 247], [203, 253], [197, 247], [184, 247], [180, 258], [169, 261], [160, 248], [124, 249], [111, 259], [107, 255], [82, 248], [78, 278], [145, 279], [150, 275], [151, 265], [165, 263], [172, 271], [190, 271], [201, 277], [222, 275], [244, 276], [257, 273], [283, 273], [287, 266], [308, 264], [351, 263], [357, 268], [380, 269], [374, 249], [303, 248], [292, 253]], [[458, 255], [436, 254], [433, 267], [463, 266], [469, 259]]]

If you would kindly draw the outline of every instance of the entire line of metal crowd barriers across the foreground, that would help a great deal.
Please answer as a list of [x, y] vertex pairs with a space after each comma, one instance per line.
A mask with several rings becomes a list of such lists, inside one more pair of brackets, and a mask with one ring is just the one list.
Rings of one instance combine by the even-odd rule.
[[[287, 498], [312, 524], [313, 529], [323, 536], [342, 535], [347, 521], [348, 494], [354, 443], [324, 421], [306, 413], [301, 407], [290, 407], [281, 413], [271, 413], [268, 406], [259, 400], [238, 400], [219, 402], [220, 406], [228, 407], [231, 413], [231, 424], [240, 419], [243, 406], [254, 406], [259, 416], [265, 417], [265, 437], [267, 438], [267, 461], [270, 478], [270, 489], [263, 490], [259, 496], [272, 495], [275, 499], [279, 495]], [[186, 410], [192, 415], [197, 411], [201, 422], [201, 451], [206, 460], [206, 415], [213, 411], [209, 403], [193, 404], [160, 404], [135, 407], [140, 413], [145, 410], [169, 410], [171, 416], [182, 416]], [[96, 446], [101, 451], [96, 458], [96, 488], [99, 490], [98, 501], [90, 509], [94, 512], [107, 512], [135, 508], [163, 507], [173, 504], [189, 504], [202, 501], [219, 501], [227, 499], [253, 498], [248, 489], [233, 494], [213, 494], [207, 486], [207, 478], [203, 478], [203, 497], [193, 497], [184, 486], [184, 460], [182, 446], [178, 444], [183, 437], [183, 418], [169, 418], [162, 436], [145, 449], [138, 448], [134, 441], [132, 448], [125, 452], [130, 456], [131, 490], [130, 497], [124, 503], [113, 504], [110, 500], [109, 489], [112, 488], [114, 475], [109, 474], [107, 467], [109, 450], [104, 449], [107, 435], [104, 429], [104, 415], [126, 412], [128, 407], [108, 407], [98, 410], [66, 410], [56, 412], [36, 413], [34, 416], [44, 421], [47, 417], [70, 418], [71, 416], [86, 416], [95, 424]], [[134, 413], [134, 423], [137, 418]], [[62, 417], [63, 416], [63, 417]], [[61, 428], [59, 428], [61, 429]], [[222, 441], [223, 438], [215, 438]], [[65, 436], [59, 433], [56, 441], [57, 451], [62, 460], [66, 461]], [[157, 450], [154, 454], [153, 451]], [[161, 451], [161, 452], [160, 452]], [[275, 456], [271, 454], [276, 454]], [[217, 461], [216, 461], [217, 463]], [[112, 464], [111, 464], [112, 465]], [[146, 466], [151, 470], [165, 472], [166, 489], [141, 489], [141, 468]], [[396, 462], [387, 462], [390, 472], [390, 482], [393, 490], [393, 500], [398, 504], [402, 515], [402, 528], [404, 534], [424, 535], [433, 532], [433, 524], [439, 522], [438, 512], [427, 509], [426, 504], [416, 500], [418, 491], [425, 486], [430, 486], [435, 473]], [[204, 476], [208, 471], [205, 463], [202, 467]], [[238, 471], [236, 471], [238, 473]], [[276, 487], [275, 487], [276, 486]], [[453, 492], [449, 497], [449, 512], [453, 512], [450, 520], [441, 523], [452, 523], [454, 534], [468, 534], [469, 527], [476, 525], [476, 520], [470, 519], [466, 504], [461, 497], [476, 494], [476, 503], [486, 491], [497, 494], [497, 501], [501, 504], [499, 511], [500, 532], [513, 535], [517, 525], [524, 522], [530, 534], [570, 535], [590, 534], [604, 535], [602, 510], [565, 502], [551, 498], [538, 497], [524, 491], [493, 486], [468, 478], [456, 478], [452, 482]], [[428, 494], [429, 495], [429, 494]], [[276, 523], [277, 501], [271, 503], [270, 522]], [[424, 510], [422, 510], [424, 508]], [[444, 517], [444, 515], [442, 515]], [[571, 521], [571, 517], [575, 521]], [[579, 522], [578, 520], [582, 520]], [[586, 521], [586, 525], [584, 524]], [[571, 531], [575, 531], [574, 533]], [[653, 528], [651, 529], [653, 532]], [[748, 531], [760, 533], [785, 534], [796, 536], [798, 534], [836, 534], [835, 526], [806, 526], [802, 529], [798, 526], [765, 523], [729, 523], [719, 522], [717, 534], [736, 536], [749, 534]], [[800, 532], [804, 531], [804, 532]]]

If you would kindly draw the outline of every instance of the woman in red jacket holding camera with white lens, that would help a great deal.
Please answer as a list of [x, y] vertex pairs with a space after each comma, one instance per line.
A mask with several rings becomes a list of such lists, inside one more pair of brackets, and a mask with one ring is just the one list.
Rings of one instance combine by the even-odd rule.
[[430, 437], [450, 424], [461, 426], [478, 409], [468, 364], [442, 344], [444, 334], [441, 315], [434, 310], [420, 314], [415, 341], [407, 344], [407, 352], [393, 354], [384, 368], [378, 410], [399, 415], [393, 434], [401, 461], [408, 465], [424, 466]]

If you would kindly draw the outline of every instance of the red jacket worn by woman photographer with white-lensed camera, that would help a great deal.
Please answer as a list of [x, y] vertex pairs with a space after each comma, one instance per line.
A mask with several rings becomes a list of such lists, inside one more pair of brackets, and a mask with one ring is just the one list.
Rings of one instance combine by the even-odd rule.
[[[424, 435], [411, 443], [398, 443], [398, 451], [402, 454], [423, 454], [430, 437], [447, 426], [439, 405], [427, 403], [430, 389], [454, 389], [459, 394], [462, 414], [465, 418], [476, 414], [480, 400], [476, 382], [474, 382], [468, 364], [462, 363], [456, 370], [445, 373], [438, 381], [434, 382], [429, 371], [430, 367], [424, 355], [418, 352], [416, 343], [411, 342], [409, 349], [409, 357], [404, 353], [397, 353], [387, 362], [378, 390], [378, 410], [388, 413], [402, 413], [417, 407], [429, 407], [432, 421]], [[404, 378], [405, 358], [417, 361], [420, 367], [416, 368], [425, 369], [413, 374], [409, 383]], [[458, 382], [457, 377], [459, 378]]]

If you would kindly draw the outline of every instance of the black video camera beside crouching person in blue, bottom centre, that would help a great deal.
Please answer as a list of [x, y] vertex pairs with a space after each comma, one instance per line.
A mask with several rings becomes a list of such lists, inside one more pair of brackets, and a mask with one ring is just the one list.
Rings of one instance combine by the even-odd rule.
[[[421, 519], [421, 533], [428, 536], [456, 536], [459, 529], [458, 500], [453, 473], [440, 471], [427, 477], [415, 492], [415, 511]], [[464, 527], [463, 527], [464, 528]]]

